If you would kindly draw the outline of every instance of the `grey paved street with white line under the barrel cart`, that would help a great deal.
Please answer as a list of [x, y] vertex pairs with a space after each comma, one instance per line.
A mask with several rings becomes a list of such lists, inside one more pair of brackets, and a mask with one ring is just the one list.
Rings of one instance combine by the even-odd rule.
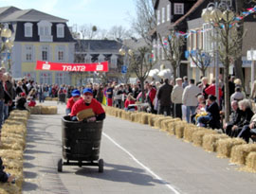
[[63, 167], [61, 117], [30, 115], [27, 124], [23, 193], [255, 193], [256, 174], [239, 171], [192, 144], [148, 125], [107, 115], [101, 139], [104, 172], [96, 167]]

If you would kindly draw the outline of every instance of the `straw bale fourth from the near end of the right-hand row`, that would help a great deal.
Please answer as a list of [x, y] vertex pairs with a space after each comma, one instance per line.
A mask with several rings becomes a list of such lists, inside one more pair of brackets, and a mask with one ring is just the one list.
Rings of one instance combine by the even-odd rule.
[[207, 151], [216, 151], [216, 143], [219, 139], [229, 138], [227, 134], [206, 134], [203, 137], [203, 149]]

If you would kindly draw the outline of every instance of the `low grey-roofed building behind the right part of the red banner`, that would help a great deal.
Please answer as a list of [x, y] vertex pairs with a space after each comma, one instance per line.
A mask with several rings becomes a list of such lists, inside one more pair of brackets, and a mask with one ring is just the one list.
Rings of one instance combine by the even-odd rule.
[[[75, 62], [108, 62], [106, 73], [71, 73], [72, 84], [84, 84], [87, 81], [119, 81], [121, 78], [122, 57], [119, 49], [122, 44], [114, 40], [77, 40], [75, 45]], [[81, 75], [82, 74], [82, 75]], [[102, 75], [103, 74], [103, 75]], [[83, 80], [81, 80], [83, 79]]]

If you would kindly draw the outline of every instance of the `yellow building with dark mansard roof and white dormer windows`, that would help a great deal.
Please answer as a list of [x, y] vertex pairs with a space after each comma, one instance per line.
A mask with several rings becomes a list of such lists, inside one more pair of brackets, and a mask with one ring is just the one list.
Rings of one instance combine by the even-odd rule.
[[74, 62], [75, 40], [67, 20], [36, 9], [0, 9], [0, 22], [12, 31], [13, 78], [27, 77], [38, 83], [70, 83], [66, 72], [35, 71], [37, 61]]

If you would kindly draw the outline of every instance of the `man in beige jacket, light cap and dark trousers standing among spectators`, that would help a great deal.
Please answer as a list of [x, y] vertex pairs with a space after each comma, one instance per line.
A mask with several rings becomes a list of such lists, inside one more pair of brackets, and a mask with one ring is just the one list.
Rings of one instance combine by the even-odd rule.
[[174, 85], [174, 90], [172, 92], [172, 102], [174, 103], [174, 117], [182, 118], [182, 95], [182, 79], [178, 78], [176, 79], [176, 85]]

